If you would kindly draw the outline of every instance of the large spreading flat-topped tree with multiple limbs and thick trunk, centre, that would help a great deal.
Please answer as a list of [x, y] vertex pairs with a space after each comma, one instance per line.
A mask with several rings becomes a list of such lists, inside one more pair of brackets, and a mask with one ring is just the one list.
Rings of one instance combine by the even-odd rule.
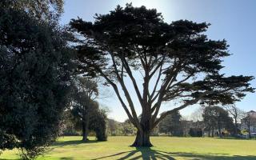
[[[95, 22], [72, 19], [70, 26], [84, 37], [77, 46], [79, 70], [105, 78], [138, 128], [133, 146], [151, 146], [150, 130], [174, 111], [197, 102], [233, 103], [253, 91], [249, 84], [253, 77], [219, 74], [222, 58], [230, 55], [228, 45], [225, 40], [207, 38], [204, 32], [210, 24], [206, 22], [179, 20], [169, 24], [157, 10], [127, 4], [110, 14], [96, 14]], [[134, 76], [135, 70], [142, 77]], [[130, 78], [142, 107], [141, 120], [126, 78]], [[180, 106], [158, 118], [162, 102], [177, 99]]]

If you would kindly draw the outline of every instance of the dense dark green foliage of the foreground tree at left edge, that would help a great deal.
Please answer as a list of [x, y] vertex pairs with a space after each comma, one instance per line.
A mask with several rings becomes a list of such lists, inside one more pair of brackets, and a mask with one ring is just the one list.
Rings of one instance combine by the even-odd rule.
[[0, 150], [35, 158], [57, 138], [69, 90], [67, 34], [0, 2]]

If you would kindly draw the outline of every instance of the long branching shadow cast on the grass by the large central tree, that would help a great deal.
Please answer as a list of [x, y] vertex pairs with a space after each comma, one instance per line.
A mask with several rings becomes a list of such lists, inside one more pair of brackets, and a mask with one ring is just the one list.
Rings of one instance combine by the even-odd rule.
[[[138, 156], [134, 157], [134, 154], [141, 153]], [[120, 158], [119, 156], [122, 155]], [[118, 156], [118, 157], [117, 157]], [[186, 152], [164, 152], [159, 150], [152, 150], [148, 147], [137, 147], [136, 150], [126, 151], [126, 152], [120, 152], [118, 154], [112, 154], [108, 156], [104, 156], [101, 158], [95, 158], [94, 160], [98, 159], [105, 159], [105, 158], [111, 158], [111, 159], [118, 159], [118, 160], [125, 160], [125, 159], [170, 159], [174, 160], [176, 157], [180, 158], [189, 158], [194, 160], [201, 160], [201, 159], [210, 159], [210, 160], [255, 160], [255, 155], [248, 155], [248, 156], [242, 156], [242, 155], [233, 155], [229, 156], [229, 154], [195, 154], [195, 153], [186, 153]]]

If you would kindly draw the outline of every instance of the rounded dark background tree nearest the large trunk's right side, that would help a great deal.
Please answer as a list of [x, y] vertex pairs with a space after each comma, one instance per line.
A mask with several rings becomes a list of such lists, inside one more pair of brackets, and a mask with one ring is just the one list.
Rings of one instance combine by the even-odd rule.
[[167, 115], [158, 125], [159, 132], [173, 136], [182, 136], [181, 118], [182, 115], [179, 111]]

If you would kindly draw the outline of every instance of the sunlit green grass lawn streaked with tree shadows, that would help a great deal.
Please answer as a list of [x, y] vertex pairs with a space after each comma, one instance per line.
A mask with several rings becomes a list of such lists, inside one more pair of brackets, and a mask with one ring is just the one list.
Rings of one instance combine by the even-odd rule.
[[[154, 147], [134, 148], [134, 137], [109, 137], [107, 142], [83, 143], [81, 137], [59, 138], [38, 159], [224, 159], [255, 160], [256, 141], [220, 138], [152, 137]], [[18, 159], [17, 150], [7, 150], [0, 159]]]

